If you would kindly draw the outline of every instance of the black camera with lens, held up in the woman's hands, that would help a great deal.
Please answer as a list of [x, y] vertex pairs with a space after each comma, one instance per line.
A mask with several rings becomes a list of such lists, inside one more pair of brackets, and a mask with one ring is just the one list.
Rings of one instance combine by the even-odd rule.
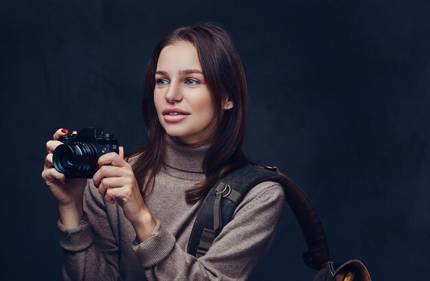
[[82, 128], [77, 135], [65, 135], [58, 141], [63, 144], [54, 150], [52, 161], [67, 178], [91, 179], [100, 156], [120, 152], [117, 139], [102, 128]]

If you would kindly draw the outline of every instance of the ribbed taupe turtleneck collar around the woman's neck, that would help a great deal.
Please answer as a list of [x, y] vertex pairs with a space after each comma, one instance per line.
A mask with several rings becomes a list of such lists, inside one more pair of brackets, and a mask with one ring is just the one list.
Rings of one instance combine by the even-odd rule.
[[167, 134], [165, 144], [164, 162], [169, 175], [181, 179], [205, 179], [202, 166], [209, 144], [192, 147], [177, 142]]

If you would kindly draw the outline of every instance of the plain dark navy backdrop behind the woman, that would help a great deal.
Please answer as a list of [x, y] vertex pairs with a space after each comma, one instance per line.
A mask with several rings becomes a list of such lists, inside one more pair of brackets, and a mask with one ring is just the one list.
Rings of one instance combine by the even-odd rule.
[[[247, 74], [247, 153], [308, 193], [332, 258], [425, 280], [430, 258], [429, 1], [1, 1], [1, 280], [59, 280], [41, 171], [57, 128], [102, 126], [130, 151], [150, 51], [216, 21]], [[252, 280], [310, 280], [286, 208]]]

